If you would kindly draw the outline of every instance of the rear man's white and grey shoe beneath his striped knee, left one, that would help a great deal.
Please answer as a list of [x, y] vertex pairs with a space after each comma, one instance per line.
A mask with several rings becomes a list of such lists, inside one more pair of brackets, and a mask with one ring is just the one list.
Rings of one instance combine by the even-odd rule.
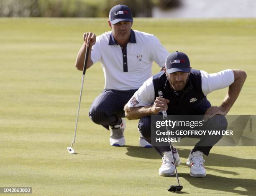
[[123, 132], [125, 130], [126, 123], [123, 118], [121, 118], [121, 124], [110, 126], [110, 139], [109, 143], [111, 146], [124, 146], [125, 138]]

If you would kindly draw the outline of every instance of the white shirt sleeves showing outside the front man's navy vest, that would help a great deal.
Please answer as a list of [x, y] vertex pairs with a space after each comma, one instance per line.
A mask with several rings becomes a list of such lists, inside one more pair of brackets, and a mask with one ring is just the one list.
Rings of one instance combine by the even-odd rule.
[[[223, 70], [218, 73], [207, 73], [200, 70], [202, 80], [202, 92], [206, 96], [214, 90], [228, 87], [235, 78], [231, 69]], [[129, 108], [150, 106], [155, 101], [155, 90], [153, 84], [153, 77], [146, 80], [143, 85], [134, 93], [133, 97], [128, 101]], [[133, 104], [135, 103], [136, 104]]]

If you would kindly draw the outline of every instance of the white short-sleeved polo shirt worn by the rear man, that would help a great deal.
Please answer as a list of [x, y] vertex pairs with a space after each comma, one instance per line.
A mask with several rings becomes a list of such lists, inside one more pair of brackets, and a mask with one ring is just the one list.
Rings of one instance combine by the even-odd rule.
[[126, 47], [121, 47], [111, 31], [97, 36], [91, 60], [100, 61], [105, 76], [105, 89], [138, 89], [152, 76], [153, 60], [164, 67], [169, 52], [151, 34], [131, 30]]

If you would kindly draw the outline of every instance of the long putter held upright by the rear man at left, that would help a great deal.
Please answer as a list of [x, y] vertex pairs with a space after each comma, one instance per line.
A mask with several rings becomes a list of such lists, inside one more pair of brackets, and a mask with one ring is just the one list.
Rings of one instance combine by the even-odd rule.
[[80, 96], [79, 96], [79, 103], [78, 103], [78, 108], [77, 108], [77, 120], [76, 120], [76, 125], [75, 125], [74, 139], [73, 139], [73, 141], [71, 143], [71, 146], [67, 147], [67, 149], [68, 149], [70, 154], [77, 154], [72, 147], [73, 147], [73, 144], [76, 141], [77, 123], [78, 123], [78, 117], [79, 117], [79, 111], [80, 111], [80, 105], [81, 105], [82, 91], [83, 91], [83, 87], [84, 87], [84, 76], [85, 76], [86, 65], [87, 65], [88, 56], [89, 56], [89, 52], [88, 52], [88, 48], [89, 47], [90, 47], [90, 42], [89, 42], [88, 46], [86, 46], [86, 49], [85, 49], [84, 68], [83, 68], [83, 75], [82, 75], [82, 85], [81, 85]]

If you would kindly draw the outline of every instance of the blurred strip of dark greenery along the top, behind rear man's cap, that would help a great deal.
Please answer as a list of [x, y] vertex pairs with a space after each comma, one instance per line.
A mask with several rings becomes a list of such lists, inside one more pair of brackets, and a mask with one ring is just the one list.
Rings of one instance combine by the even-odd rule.
[[170, 8], [179, 0], [0, 0], [0, 16], [108, 17], [117, 4], [128, 5], [134, 17], [151, 17], [153, 6]]

